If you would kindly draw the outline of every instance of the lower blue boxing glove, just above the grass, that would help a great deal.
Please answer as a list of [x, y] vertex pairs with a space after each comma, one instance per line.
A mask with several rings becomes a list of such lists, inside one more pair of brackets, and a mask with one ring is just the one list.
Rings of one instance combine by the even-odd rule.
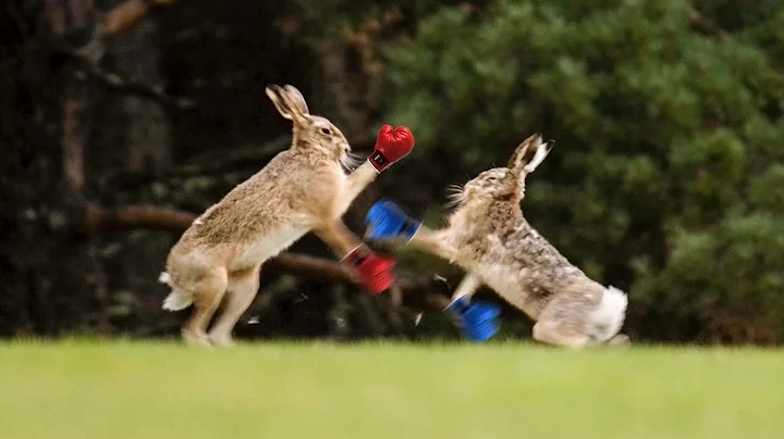
[[501, 325], [498, 316], [501, 308], [491, 302], [477, 301], [470, 303], [470, 298], [462, 296], [455, 299], [444, 310], [463, 334], [473, 341], [487, 341], [498, 334]]

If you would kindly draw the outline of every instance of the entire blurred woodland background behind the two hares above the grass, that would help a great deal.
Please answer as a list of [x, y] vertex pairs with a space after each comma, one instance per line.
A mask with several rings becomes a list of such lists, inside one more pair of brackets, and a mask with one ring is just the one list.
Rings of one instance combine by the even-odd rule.
[[[358, 234], [380, 197], [438, 225], [450, 184], [539, 131], [556, 145], [524, 212], [629, 291], [627, 334], [784, 339], [779, 0], [11, 0], [0, 35], [3, 337], [175, 337], [167, 252], [287, 147], [264, 89], [292, 84], [363, 155], [384, 123], [416, 136], [347, 214]], [[379, 250], [400, 259], [396, 301], [307, 236], [238, 336], [456, 338], [440, 310], [461, 272]], [[529, 327], [507, 308], [501, 338]]]

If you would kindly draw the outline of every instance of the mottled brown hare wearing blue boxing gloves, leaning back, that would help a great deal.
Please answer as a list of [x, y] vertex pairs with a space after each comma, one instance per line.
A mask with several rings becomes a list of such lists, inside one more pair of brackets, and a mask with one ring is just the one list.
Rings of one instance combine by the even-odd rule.
[[[368, 237], [411, 242], [464, 268], [446, 311], [474, 339], [492, 337], [498, 314], [470, 296], [486, 284], [534, 321], [534, 339], [581, 348], [626, 343], [618, 334], [626, 294], [591, 280], [542, 238], [525, 220], [520, 201], [525, 178], [550, 153], [552, 145], [534, 135], [520, 143], [507, 167], [485, 171], [456, 195], [449, 227], [432, 230], [391, 201], [368, 212]], [[474, 331], [471, 334], [471, 330]]]

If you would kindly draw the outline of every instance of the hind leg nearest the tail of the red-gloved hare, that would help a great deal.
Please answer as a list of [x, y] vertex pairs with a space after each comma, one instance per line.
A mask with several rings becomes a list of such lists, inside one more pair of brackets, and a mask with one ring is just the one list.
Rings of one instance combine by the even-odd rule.
[[223, 299], [226, 280], [225, 268], [217, 268], [204, 274], [204, 277], [194, 286], [192, 289], [194, 312], [182, 328], [182, 337], [185, 342], [210, 344], [207, 338], [207, 325]]

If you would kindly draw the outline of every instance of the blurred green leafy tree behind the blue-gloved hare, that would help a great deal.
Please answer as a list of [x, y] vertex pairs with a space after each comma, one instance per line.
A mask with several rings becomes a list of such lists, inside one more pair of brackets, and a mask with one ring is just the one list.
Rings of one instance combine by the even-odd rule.
[[530, 133], [556, 139], [525, 212], [632, 289], [633, 334], [780, 341], [784, 7], [697, 3], [709, 16], [677, 0], [441, 10], [387, 50], [387, 118], [417, 134], [420, 166], [449, 163], [451, 181], [416, 177], [433, 189], [505, 163]]

